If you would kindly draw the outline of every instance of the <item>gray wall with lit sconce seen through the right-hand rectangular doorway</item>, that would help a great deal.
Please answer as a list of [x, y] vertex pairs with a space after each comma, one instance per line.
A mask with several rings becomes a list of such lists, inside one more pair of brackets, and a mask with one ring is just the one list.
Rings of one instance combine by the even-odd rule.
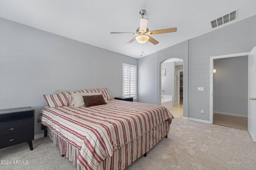
[[248, 115], [248, 56], [215, 59], [214, 112]]

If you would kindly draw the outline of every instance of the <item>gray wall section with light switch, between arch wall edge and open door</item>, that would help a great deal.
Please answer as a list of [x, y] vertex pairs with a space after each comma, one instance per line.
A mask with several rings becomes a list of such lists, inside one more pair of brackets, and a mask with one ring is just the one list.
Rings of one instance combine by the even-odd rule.
[[248, 52], [254, 46], [256, 16], [189, 40], [189, 117], [210, 120], [210, 57]]

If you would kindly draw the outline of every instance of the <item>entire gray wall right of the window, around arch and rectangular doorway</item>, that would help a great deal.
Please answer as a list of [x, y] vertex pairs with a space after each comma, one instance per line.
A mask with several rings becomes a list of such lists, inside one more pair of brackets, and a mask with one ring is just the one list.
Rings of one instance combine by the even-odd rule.
[[[256, 16], [252, 16], [139, 59], [139, 102], [160, 104], [160, 63], [177, 57], [184, 60], [184, 117], [209, 121], [210, 57], [251, 51], [256, 46], [255, 30]], [[198, 87], [204, 91], [198, 92]]]

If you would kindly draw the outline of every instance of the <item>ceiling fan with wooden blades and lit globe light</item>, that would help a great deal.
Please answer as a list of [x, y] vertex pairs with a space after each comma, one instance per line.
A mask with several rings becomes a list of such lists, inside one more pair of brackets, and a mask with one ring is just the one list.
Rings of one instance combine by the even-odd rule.
[[149, 41], [150, 43], [156, 45], [159, 42], [156, 41], [154, 38], [152, 38], [150, 35], [162, 34], [162, 33], [172, 33], [172, 32], [177, 31], [176, 27], [167, 28], [167, 29], [159, 29], [159, 30], [155, 30], [155, 31], [149, 31], [149, 29], [147, 27], [148, 26], [148, 19], [143, 18], [143, 16], [146, 14], [146, 10], [144, 10], [144, 9], [140, 10], [139, 14], [142, 16], [142, 18], [140, 18], [140, 27], [138, 27], [136, 29], [136, 33], [111, 32], [111, 34], [133, 34], [133, 35], [138, 35], [137, 37], [133, 38], [132, 40], [130, 40], [125, 45], [128, 45], [128, 44], [132, 43], [135, 40], [137, 40], [138, 43], [142, 43], [142, 44]]

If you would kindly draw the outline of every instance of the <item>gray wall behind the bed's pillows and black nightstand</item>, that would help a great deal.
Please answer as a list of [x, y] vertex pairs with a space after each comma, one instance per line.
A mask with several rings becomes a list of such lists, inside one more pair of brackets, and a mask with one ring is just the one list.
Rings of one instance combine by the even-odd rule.
[[[138, 59], [0, 18], [0, 109], [32, 106], [55, 90], [107, 87], [122, 96], [122, 63]], [[35, 123], [35, 135], [42, 133]]]

